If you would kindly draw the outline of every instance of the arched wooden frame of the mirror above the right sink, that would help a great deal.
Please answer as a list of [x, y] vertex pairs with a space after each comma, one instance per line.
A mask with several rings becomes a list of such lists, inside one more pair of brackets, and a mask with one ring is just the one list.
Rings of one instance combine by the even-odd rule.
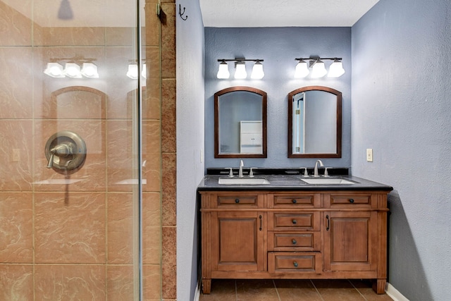
[[[293, 154], [292, 153], [292, 98], [301, 92], [324, 91], [335, 94], [337, 97], [337, 147], [335, 154]], [[341, 139], [342, 139], [342, 94], [340, 91], [330, 87], [308, 86], [294, 90], [288, 94], [288, 158], [341, 158]]]

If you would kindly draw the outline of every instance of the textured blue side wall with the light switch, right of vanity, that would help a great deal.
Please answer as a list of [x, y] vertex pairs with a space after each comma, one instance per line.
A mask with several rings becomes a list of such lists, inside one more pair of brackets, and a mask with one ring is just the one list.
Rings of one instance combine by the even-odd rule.
[[395, 188], [388, 280], [412, 301], [451, 300], [450, 22], [449, 0], [381, 0], [352, 27], [352, 172]]

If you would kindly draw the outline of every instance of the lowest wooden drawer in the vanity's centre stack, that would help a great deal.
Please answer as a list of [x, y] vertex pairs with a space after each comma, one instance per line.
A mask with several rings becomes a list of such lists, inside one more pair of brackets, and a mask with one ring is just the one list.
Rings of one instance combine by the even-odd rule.
[[269, 273], [316, 273], [323, 270], [320, 252], [268, 252]]

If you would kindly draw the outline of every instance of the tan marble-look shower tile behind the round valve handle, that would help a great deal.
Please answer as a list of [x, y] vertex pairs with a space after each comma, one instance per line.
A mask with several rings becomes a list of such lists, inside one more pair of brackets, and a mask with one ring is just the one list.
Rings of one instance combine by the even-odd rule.
[[[85, 140], [87, 155], [83, 166], [66, 176], [63, 169], [47, 168], [44, 148], [47, 140], [61, 130], [70, 130]], [[35, 182], [37, 191], [105, 191], [106, 140], [105, 121], [36, 120]], [[68, 183], [68, 184], [66, 184]]]

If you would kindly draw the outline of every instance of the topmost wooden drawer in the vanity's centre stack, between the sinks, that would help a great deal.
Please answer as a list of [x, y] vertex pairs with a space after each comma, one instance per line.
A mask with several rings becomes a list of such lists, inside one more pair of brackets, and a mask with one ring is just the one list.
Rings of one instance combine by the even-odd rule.
[[318, 208], [320, 195], [306, 194], [274, 194], [268, 197], [269, 208]]

